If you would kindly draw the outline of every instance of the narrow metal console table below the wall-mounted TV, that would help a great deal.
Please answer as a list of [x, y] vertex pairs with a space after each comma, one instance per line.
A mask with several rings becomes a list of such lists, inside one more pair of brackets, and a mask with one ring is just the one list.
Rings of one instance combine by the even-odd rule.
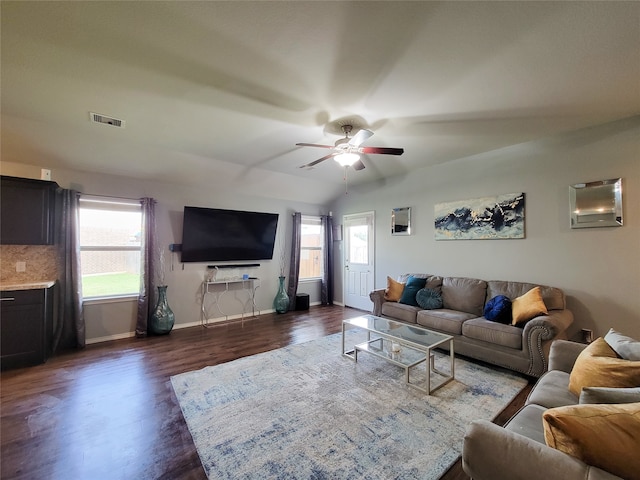
[[[230, 288], [231, 287], [231, 288]], [[233, 288], [239, 287], [239, 288]], [[260, 310], [256, 308], [256, 290], [260, 288], [260, 279], [256, 277], [248, 279], [213, 280], [202, 282], [202, 304], [200, 321], [203, 327], [209, 326], [209, 314], [207, 313], [207, 297], [211, 297], [211, 306], [220, 313], [221, 316], [229, 319], [229, 315], [222, 310], [221, 300], [228, 294], [229, 290], [239, 292], [246, 298], [242, 302], [242, 320], [251, 310], [251, 316], [256, 316], [256, 311], [260, 315]]]

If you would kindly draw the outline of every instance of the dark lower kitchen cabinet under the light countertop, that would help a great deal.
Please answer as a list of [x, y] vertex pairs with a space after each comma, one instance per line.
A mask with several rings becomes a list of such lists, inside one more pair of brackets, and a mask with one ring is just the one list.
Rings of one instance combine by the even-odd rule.
[[0, 292], [0, 367], [44, 363], [51, 354], [55, 287]]

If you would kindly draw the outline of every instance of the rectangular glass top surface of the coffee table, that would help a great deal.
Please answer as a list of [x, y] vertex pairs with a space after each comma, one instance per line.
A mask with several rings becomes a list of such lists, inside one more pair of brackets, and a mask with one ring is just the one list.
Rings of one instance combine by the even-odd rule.
[[406, 343], [413, 343], [420, 347], [435, 347], [452, 338], [450, 335], [427, 330], [424, 327], [414, 327], [406, 323], [396, 322], [388, 318], [375, 317], [373, 315], [349, 318], [343, 320], [343, 323], [371, 332], [378, 332], [388, 337], [395, 337]]

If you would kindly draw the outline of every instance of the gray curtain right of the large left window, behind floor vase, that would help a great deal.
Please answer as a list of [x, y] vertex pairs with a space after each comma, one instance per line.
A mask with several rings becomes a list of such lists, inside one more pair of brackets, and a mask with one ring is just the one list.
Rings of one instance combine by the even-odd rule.
[[140, 293], [138, 294], [138, 315], [136, 319], [136, 337], [148, 334], [149, 315], [153, 309], [152, 299], [155, 291], [156, 265], [153, 253], [156, 248], [156, 201], [153, 198], [141, 198], [142, 239], [140, 259]]

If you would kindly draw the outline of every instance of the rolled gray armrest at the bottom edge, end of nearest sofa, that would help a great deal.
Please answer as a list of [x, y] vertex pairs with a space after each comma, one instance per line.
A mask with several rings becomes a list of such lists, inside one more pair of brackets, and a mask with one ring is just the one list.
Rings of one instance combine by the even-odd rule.
[[474, 480], [618, 478], [486, 420], [476, 420], [467, 429], [462, 447], [462, 468]]

